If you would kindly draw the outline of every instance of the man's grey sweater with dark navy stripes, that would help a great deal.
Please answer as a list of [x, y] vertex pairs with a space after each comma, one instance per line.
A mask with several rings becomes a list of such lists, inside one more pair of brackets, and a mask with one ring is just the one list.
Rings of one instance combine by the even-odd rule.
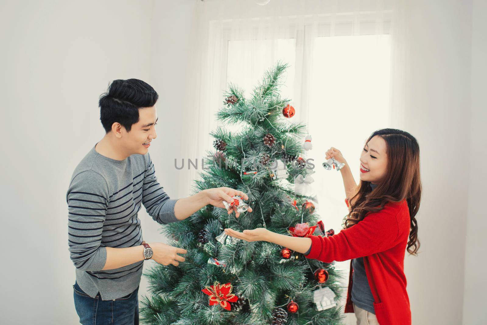
[[[96, 145], [95, 145], [96, 146]], [[141, 245], [137, 213], [142, 204], [158, 223], [178, 221], [175, 199], [170, 199], [155, 177], [149, 153], [118, 161], [96, 152], [95, 147], [75, 168], [66, 195], [68, 238], [79, 287], [102, 300], [128, 295], [140, 283], [144, 261], [101, 271], [106, 247]]]

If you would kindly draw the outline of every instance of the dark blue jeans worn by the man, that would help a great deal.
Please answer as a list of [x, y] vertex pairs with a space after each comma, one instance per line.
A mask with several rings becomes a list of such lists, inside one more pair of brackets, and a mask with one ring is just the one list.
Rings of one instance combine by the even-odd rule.
[[100, 293], [92, 298], [78, 283], [73, 286], [76, 313], [82, 325], [138, 325], [139, 288], [132, 293], [114, 300], [101, 300]]

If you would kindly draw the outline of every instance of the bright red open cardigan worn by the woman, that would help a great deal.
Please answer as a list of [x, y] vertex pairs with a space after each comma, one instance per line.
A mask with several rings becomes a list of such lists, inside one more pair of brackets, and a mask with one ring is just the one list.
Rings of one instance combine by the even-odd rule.
[[[411, 309], [404, 254], [410, 232], [406, 200], [387, 203], [379, 212], [369, 213], [356, 225], [329, 237], [309, 236], [307, 258], [325, 263], [363, 257], [367, 280], [374, 296], [374, 310], [380, 325], [410, 325]], [[354, 312], [351, 301], [352, 264], [345, 312]]]

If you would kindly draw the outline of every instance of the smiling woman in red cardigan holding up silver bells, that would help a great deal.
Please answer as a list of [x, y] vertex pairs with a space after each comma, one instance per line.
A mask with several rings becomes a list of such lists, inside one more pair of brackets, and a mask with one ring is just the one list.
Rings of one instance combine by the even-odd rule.
[[[331, 157], [345, 162], [335, 148], [326, 153], [326, 159]], [[404, 255], [406, 249], [414, 255], [419, 249], [419, 144], [408, 132], [377, 130], [368, 138], [360, 162], [358, 186], [348, 164], [340, 170], [350, 213], [337, 235], [292, 237], [264, 228], [225, 232], [276, 243], [326, 263], [352, 259], [345, 312], [355, 311], [358, 325], [409, 325]]]

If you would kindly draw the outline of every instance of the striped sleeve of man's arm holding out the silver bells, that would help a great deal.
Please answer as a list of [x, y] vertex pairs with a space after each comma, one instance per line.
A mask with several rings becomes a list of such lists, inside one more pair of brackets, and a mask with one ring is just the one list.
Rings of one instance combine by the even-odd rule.
[[177, 199], [170, 199], [155, 176], [154, 164], [149, 153], [145, 155], [148, 162], [144, 174], [144, 185], [142, 187], [142, 203], [152, 219], [164, 225], [170, 222], [179, 221], [174, 214], [174, 205]]

